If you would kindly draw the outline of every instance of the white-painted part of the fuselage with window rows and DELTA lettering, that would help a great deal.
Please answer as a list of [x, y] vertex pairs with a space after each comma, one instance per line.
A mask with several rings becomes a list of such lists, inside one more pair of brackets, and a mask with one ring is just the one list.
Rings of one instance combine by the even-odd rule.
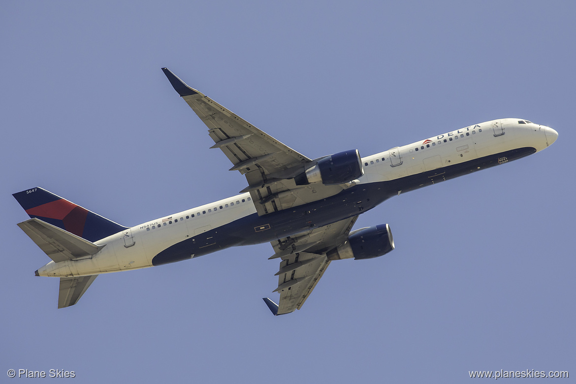
[[[363, 157], [364, 174], [356, 184], [380, 183], [433, 170], [438, 170], [435, 174], [442, 177], [443, 168], [472, 164], [475, 159], [522, 148], [543, 150], [557, 136], [551, 128], [526, 120], [487, 121]], [[498, 158], [498, 164], [507, 161], [506, 157]], [[95, 244], [104, 245], [104, 248], [93, 256], [60, 263], [51, 261], [38, 273], [40, 276], [70, 277], [151, 267], [154, 256], [170, 246], [254, 214], [256, 208], [249, 193], [232, 196], [103, 238]], [[337, 220], [339, 218], [335, 216], [334, 222]], [[266, 241], [270, 238], [262, 237], [259, 242]], [[231, 245], [237, 244], [228, 246]]]

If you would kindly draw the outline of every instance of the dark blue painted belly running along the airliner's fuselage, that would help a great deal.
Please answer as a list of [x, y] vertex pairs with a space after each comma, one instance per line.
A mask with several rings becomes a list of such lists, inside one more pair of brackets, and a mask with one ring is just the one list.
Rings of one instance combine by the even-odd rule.
[[[166, 248], [154, 256], [152, 264], [174, 263], [231, 246], [260, 244], [314, 227], [325, 226], [370, 210], [382, 201], [397, 195], [398, 191], [402, 193], [414, 191], [414, 189], [501, 164], [503, 158], [509, 162], [535, 152], [534, 148], [515, 149], [396, 180], [359, 184], [327, 199], [263, 216], [257, 214], [245, 216]], [[258, 204], [257, 201], [254, 203]], [[262, 230], [263, 227], [266, 229]]]

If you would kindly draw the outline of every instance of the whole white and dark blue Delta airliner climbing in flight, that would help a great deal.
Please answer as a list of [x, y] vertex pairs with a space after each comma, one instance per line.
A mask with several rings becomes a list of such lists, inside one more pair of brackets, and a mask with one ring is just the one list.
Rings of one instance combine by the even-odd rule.
[[169, 82], [208, 127], [239, 195], [126, 227], [36, 187], [14, 193], [30, 216], [18, 226], [48, 257], [36, 276], [59, 277], [58, 308], [75, 305], [101, 273], [188, 260], [232, 246], [270, 242], [280, 262], [274, 315], [301, 309], [335, 260], [395, 249], [388, 224], [352, 230], [358, 216], [392, 196], [539, 152], [558, 132], [524, 119], [497, 119], [361, 157], [357, 149], [310, 159], [190, 88]]

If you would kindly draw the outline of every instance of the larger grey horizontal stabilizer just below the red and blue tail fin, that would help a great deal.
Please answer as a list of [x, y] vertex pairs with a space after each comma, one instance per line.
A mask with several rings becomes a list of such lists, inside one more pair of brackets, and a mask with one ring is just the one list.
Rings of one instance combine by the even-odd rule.
[[40, 219], [26, 220], [18, 223], [18, 227], [55, 263], [90, 256], [104, 247]]

